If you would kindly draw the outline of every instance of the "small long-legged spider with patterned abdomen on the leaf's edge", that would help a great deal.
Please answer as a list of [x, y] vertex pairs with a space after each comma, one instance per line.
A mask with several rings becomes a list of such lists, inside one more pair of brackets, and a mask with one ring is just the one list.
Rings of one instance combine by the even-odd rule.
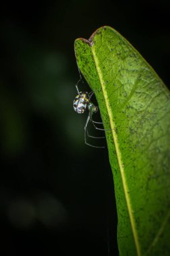
[[79, 92], [78, 86], [76, 85], [75, 87], [78, 92], [78, 95], [75, 97], [75, 100], [73, 101], [73, 108], [74, 108], [75, 112], [77, 112], [79, 114], [83, 114], [86, 109], [89, 110], [89, 115], [88, 115], [87, 121], [85, 123], [85, 144], [88, 146], [91, 146], [93, 148], [105, 148], [105, 147], [100, 147], [100, 146], [93, 146], [93, 145], [87, 143], [87, 139], [86, 139], [86, 135], [88, 137], [95, 138], [95, 139], [105, 138], [105, 137], [94, 137], [94, 136], [89, 135], [88, 128], [87, 128], [89, 121], [91, 121], [91, 123], [93, 124], [95, 129], [100, 130], [100, 131], [105, 131], [105, 129], [98, 128], [95, 125], [95, 124], [103, 124], [103, 123], [95, 122], [92, 119], [93, 114], [97, 113], [97, 111], [98, 111], [98, 107], [95, 106], [95, 104], [93, 104], [93, 102], [91, 102], [91, 97], [93, 96], [94, 92], [93, 91], [89, 92], [89, 93], [88, 92]]

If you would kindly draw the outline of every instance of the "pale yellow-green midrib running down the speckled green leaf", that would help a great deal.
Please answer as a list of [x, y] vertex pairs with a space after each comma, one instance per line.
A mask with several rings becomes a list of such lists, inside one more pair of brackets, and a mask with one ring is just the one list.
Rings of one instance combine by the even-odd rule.
[[128, 208], [128, 214], [129, 214], [129, 218], [130, 218], [130, 224], [131, 224], [131, 227], [132, 227], [132, 233], [133, 233], [133, 236], [134, 236], [134, 243], [135, 243], [135, 246], [136, 246], [136, 252], [137, 252], [138, 256], [141, 256], [140, 245], [139, 245], [139, 242], [138, 242], [138, 234], [137, 234], [137, 231], [136, 231], [136, 223], [135, 223], [134, 216], [133, 216], [133, 210], [132, 210], [132, 205], [130, 203], [130, 197], [128, 195], [128, 185], [126, 183], [126, 177], [125, 177], [125, 174], [124, 174], [124, 164], [122, 162], [122, 154], [120, 152], [120, 148], [119, 148], [119, 145], [118, 145], [118, 136], [116, 134], [116, 127], [114, 125], [114, 120], [113, 120], [113, 117], [112, 117], [112, 109], [110, 108], [108, 93], [107, 93], [107, 90], [105, 90], [105, 82], [103, 81], [101, 70], [99, 69], [99, 63], [98, 63], [98, 59], [95, 55], [93, 45], [89, 44], [89, 46], [91, 48], [91, 53], [92, 53], [92, 56], [93, 56], [93, 60], [95, 62], [95, 66], [96, 66], [96, 69], [97, 69], [97, 74], [99, 76], [99, 81], [101, 83], [101, 89], [103, 91], [103, 96], [105, 98], [105, 105], [106, 105], [106, 108], [108, 110], [108, 116], [109, 116], [109, 119], [110, 119], [110, 126], [111, 126], [112, 135], [113, 135], [113, 138], [114, 138], [114, 145], [115, 145], [115, 148], [116, 148], [116, 155], [117, 155], [117, 158], [118, 158], [118, 164], [119, 164], [119, 167], [120, 167], [120, 174], [121, 174], [121, 177], [122, 177], [124, 195], [125, 195], [126, 204], [127, 204], [127, 208]]

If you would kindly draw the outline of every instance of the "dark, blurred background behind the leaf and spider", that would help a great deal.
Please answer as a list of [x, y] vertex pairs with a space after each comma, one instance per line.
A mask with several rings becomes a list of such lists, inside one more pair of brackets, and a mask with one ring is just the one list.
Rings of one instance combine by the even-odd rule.
[[73, 110], [74, 40], [112, 26], [168, 86], [169, 1], [6, 1], [0, 13], [0, 253], [118, 255], [108, 151], [85, 145], [87, 114]]

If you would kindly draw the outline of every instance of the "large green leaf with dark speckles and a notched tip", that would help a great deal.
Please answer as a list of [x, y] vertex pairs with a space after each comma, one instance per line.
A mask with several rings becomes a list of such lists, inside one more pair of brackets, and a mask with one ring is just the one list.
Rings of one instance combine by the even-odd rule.
[[170, 255], [169, 91], [113, 28], [75, 40], [75, 53], [105, 127], [120, 255]]

